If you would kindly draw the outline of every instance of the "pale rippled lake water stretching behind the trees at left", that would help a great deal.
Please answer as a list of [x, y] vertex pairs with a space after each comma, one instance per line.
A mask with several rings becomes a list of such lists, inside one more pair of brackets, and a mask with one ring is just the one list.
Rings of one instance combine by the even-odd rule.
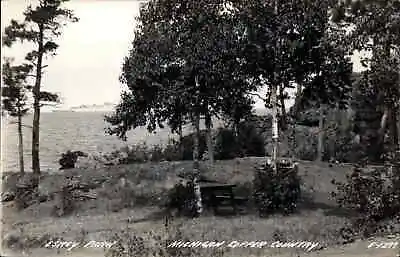
[[[117, 136], [105, 133], [107, 126], [101, 112], [49, 112], [41, 114], [40, 123], [40, 163], [43, 171], [59, 168], [58, 159], [67, 150], [80, 150], [89, 154], [108, 153], [126, 145], [146, 142], [147, 145], [165, 144], [170, 138], [176, 138], [169, 129], [156, 134], [148, 133], [145, 128], [129, 131], [126, 142]], [[2, 147], [3, 171], [18, 171], [17, 126], [13, 119], [3, 120]], [[24, 124], [32, 125], [32, 116], [24, 117]], [[190, 127], [187, 127], [188, 133]], [[31, 129], [24, 128], [25, 169], [31, 166]]]

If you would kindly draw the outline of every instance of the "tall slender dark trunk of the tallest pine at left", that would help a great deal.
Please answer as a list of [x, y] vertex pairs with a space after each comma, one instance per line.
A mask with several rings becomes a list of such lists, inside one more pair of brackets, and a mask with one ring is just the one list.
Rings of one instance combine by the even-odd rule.
[[43, 25], [39, 25], [39, 41], [38, 41], [38, 60], [36, 64], [36, 81], [33, 87], [33, 126], [32, 126], [32, 169], [34, 182], [38, 183], [38, 175], [40, 174], [39, 162], [39, 124], [40, 124], [40, 86], [42, 81], [42, 61], [43, 61]]

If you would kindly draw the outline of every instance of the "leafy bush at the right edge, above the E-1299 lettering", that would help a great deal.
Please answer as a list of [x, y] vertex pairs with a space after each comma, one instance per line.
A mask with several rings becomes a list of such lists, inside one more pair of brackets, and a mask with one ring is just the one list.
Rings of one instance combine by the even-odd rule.
[[398, 166], [364, 171], [355, 167], [345, 183], [332, 181], [332, 192], [339, 206], [355, 211], [357, 232], [370, 236], [378, 232], [378, 223], [400, 212], [400, 173]]

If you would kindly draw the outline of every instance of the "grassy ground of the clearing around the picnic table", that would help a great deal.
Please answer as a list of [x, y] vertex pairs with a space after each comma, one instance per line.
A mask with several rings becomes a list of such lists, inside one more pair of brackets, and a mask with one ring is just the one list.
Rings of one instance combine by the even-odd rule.
[[[213, 169], [202, 165], [203, 173], [220, 181], [238, 184], [237, 193], [248, 195], [251, 191], [253, 168], [263, 158], [243, 158], [217, 161]], [[120, 165], [97, 170], [69, 170], [57, 174], [44, 174], [40, 191], [52, 194], [57, 191], [66, 176], [87, 184], [96, 184], [93, 193], [97, 199], [80, 202], [72, 215], [57, 218], [52, 216], [54, 201], [16, 212], [13, 202], [2, 206], [3, 246], [24, 248], [29, 256], [57, 256], [57, 251], [40, 248], [49, 238], [72, 241], [110, 241], [115, 233], [129, 231], [129, 235], [141, 236], [145, 244], [155, 236], [171, 238], [166, 231], [165, 218], [158, 205], [165, 191], [178, 181], [179, 173], [190, 172], [191, 162], [148, 163]], [[360, 241], [342, 249], [340, 228], [349, 222], [351, 213], [336, 208], [330, 198], [334, 190], [331, 180], [343, 181], [351, 166], [326, 163], [300, 162], [299, 172], [303, 179], [304, 199], [298, 213], [290, 216], [273, 215], [259, 218], [253, 211], [236, 216], [215, 216], [206, 211], [197, 219], [174, 218], [169, 228], [179, 229], [182, 240], [190, 241], [313, 241], [325, 250], [306, 253], [303, 249], [271, 248], [224, 248], [223, 256], [394, 256], [393, 250], [367, 249], [368, 243]], [[12, 176], [7, 176], [3, 191], [12, 190]], [[4, 177], [4, 176], [3, 176]], [[129, 194], [121, 194], [118, 182], [126, 178], [130, 185]], [[7, 183], [8, 181], [8, 183]], [[149, 234], [150, 233], [150, 234]], [[120, 236], [121, 237], [121, 236]], [[127, 236], [129, 237], [129, 236]], [[11, 238], [11, 239], [10, 239]], [[157, 237], [156, 237], [157, 238]], [[35, 240], [36, 239], [36, 240]], [[8, 243], [7, 243], [8, 242]], [[33, 242], [33, 243], [32, 243]], [[151, 248], [151, 245], [147, 246]], [[351, 248], [353, 247], [353, 248]], [[7, 249], [6, 249], [7, 248]], [[4, 251], [10, 250], [9, 247]], [[34, 249], [36, 248], [36, 249]], [[347, 255], [338, 255], [348, 252]], [[60, 252], [60, 256], [103, 256], [103, 250], [74, 249]], [[64, 255], [63, 255], [64, 254]], [[73, 255], [74, 254], [74, 255]], [[219, 254], [219, 255], [218, 255]], [[200, 250], [195, 256], [221, 256], [221, 253]], [[332, 254], [332, 255], [330, 255]], [[337, 254], [337, 255], [335, 255]], [[351, 255], [353, 254], [353, 255]], [[357, 255], [359, 254], [359, 255]], [[369, 255], [371, 254], [371, 255]]]

